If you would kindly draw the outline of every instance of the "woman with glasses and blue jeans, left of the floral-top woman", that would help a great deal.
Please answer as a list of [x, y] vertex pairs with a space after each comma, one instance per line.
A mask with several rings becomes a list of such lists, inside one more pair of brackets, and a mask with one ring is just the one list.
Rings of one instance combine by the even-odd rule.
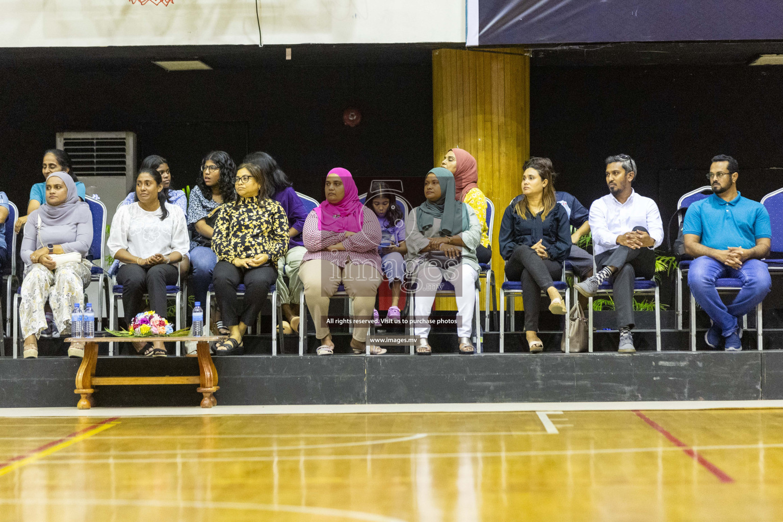
[[[236, 165], [228, 153], [212, 151], [201, 160], [201, 175], [190, 191], [188, 229], [193, 239], [190, 240], [189, 257], [193, 265], [193, 295], [201, 304], [207, 302], [207, 290], [218, 262], [218, 257], [211, 249], [218, 207], [236, 200], [235, 177]], [[213, 314], [212, 317], [217, 319], [218, 333], [228, 335], [229, 331], [223, 328], [220, 316]]]

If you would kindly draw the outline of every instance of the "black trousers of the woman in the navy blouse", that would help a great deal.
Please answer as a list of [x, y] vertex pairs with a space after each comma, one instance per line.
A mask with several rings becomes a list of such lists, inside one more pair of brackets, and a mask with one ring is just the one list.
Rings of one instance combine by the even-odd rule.
[[506, 261], [506, 277], [522, 283], [522, 304], [525, 305], [525, 331], [537, 332], [541, 308], [541, 290], [547, 290], [563, 275], [563, 264], [541, 259], [536, 250], [517, 245]]

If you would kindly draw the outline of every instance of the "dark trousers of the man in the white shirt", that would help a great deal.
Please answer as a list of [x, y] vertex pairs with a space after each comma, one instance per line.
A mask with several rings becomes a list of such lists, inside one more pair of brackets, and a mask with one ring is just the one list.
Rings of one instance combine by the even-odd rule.
[[[636, 227], [634, 230], [644, 230]], [[617, 247], [595, 257], [599, 270], [605, 266], [617, 268], [612, 276], [612, 293], [617, 311], [617, 327], [633, 328], [633, 279], [652, 279], [655, 275], [655, 252], [650, 248]]]

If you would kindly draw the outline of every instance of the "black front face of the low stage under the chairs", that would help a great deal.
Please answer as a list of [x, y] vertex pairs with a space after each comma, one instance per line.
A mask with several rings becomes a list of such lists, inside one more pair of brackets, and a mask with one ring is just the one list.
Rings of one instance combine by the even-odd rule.
[[[0, 407], [73, 406], [79, 359], [0, 358]], [[783, 351], [215, 358], [218, 405], [783, 399]], [[99, 358], [96, 375], [197, 374], [195, 358]], [[100, 406], [196, 406], [194, 385], [99, 387]]]

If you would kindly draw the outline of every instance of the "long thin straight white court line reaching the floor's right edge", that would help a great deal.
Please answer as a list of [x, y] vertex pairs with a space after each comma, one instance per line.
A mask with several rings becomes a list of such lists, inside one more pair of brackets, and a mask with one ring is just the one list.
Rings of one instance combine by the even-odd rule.
[[[755, 449], [759, 448], [783, 448], [783, 443], [774, 444], [737, 444], [737, 445], [712, 445], [712, 446], [692, 446], [695, 452], [730, 450], [730, 449]], [[654, 452], [682, 452], [683, 448], [679, 446], [655, 446], [651, 448], [598, 448], [598, 449], [552, 449], [521, 452], [453, 452], [453, 453], [357, 453], [354, 455], [270, 455], [265, 457], [211, 457], [204, 459], [57, 459], [52, 455], [48, 459], [39, 460], [35, 463], [27, 464], [31, 466], [48, 466], [52, 464], [110, 464], [117, 466], [120, 464], [136, 465], [139, 463], [236, 463], [236, 462], [282, 462], [302, 460], [354, 460], [354, 459], [373, 459], [373, 460], [394, 460], [410, 459], [411, 456], [422, 459], [464, 459], [466, 457], [489, 458], [498, 457], [510, 459], [513, 457], [539, 457], [539, 456], [557, 456], [557, 455], [612, 455], [616, 453], [654, 453]]]

